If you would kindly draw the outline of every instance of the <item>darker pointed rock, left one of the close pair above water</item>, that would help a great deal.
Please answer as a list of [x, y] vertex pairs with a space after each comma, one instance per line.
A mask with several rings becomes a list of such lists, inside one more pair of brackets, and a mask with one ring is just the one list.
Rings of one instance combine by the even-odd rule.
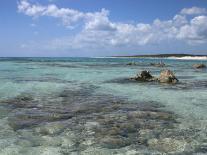
[[134, 78], [131, 78], [131, 79], [134, 79], [136, 81], [147, 81], [147, 82], [150, 82], [150, 81], [156, 81], [157, 79], [155, 77], [153, 77], [149, 71], [142, 71], [140, 74], [137, 74], [136, 77]]

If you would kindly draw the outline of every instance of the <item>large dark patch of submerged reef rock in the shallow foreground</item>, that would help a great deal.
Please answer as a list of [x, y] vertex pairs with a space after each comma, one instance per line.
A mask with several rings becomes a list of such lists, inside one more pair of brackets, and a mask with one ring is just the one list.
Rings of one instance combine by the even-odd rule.
[[126, 148], [143, 154], [206, 151], [196, 143], [202, 140], [199, 131], [179, 130], [178, 116], [159, 103], [127, 102], [96, 89], [88, 85], [52, 99], [20, 95], [1, 101], [13, 107], [8, 121], [21, 137], [17, 144], [57, 147], [61, 154], [126, 153]]

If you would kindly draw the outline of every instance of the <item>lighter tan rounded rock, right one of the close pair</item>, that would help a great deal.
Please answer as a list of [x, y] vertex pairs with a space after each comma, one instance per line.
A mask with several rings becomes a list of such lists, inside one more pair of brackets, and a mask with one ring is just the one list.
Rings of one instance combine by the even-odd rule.
[[158, 81], [160, 83], [177, 83], [178, 79], [175, 77], [172, 71], [164, 70], [160, 73]]

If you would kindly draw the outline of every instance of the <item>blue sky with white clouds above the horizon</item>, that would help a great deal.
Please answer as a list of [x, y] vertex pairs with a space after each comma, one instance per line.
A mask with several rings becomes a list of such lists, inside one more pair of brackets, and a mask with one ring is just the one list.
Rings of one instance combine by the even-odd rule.
[[207, 0], [1, 0], [0, 56], [207, 54]]

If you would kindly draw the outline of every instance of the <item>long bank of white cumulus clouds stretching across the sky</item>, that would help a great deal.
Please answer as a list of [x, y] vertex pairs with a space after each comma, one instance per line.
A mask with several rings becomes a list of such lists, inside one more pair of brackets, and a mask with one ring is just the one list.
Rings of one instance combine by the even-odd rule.
[[[27, 0], [18, 3], [18, 11], [31, 17], [48, 16], [60, 19], [64, 26], [73, 27], [83, 23], [82, 30], [75, 36], [53, 39], [44, 48], [63, 49], [112, 49], [129, 48], [166, 43], [183, 42], [189, 45], [207, 43], [206, 9], [184, 8], [172, 19], [152, 23], [123, 23], [110, 20], [110, 12], [81, 12], [71, 8], [59, 8], [54, 4], [31, 4]], [[198, 15], [191, 19], [186, 15]]]

